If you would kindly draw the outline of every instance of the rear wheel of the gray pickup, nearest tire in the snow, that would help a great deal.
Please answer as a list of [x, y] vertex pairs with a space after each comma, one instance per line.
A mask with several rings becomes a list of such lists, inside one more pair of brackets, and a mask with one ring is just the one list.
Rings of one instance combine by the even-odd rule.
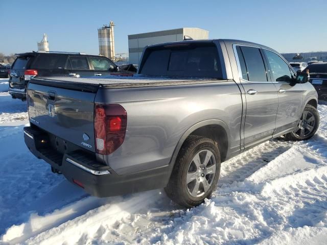
[[211, 197], [220, 174], [217, 143], [190, 135], [183, 143], [165, 191], [175, 203], [190, 208]]

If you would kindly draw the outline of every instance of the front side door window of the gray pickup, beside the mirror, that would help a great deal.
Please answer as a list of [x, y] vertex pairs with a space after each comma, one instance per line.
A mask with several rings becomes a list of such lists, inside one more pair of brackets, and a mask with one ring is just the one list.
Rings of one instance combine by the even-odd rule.
[[277, 54], [264, 50], [267, 56], [272, 76], [276, 82], [290, 82], [291, 81], [291, 70], [288, 64]]

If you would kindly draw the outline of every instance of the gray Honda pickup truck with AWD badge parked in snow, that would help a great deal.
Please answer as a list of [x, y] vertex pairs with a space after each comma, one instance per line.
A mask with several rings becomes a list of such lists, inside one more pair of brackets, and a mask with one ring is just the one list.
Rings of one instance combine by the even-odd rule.
[[269, 47], [239, 40], [147, 46], [129, 78], [37, 78], [25, 142], [97, 197], [165, 188], [192, 207], [221, 162], [284, 135], [311, 138], [317, 92]]

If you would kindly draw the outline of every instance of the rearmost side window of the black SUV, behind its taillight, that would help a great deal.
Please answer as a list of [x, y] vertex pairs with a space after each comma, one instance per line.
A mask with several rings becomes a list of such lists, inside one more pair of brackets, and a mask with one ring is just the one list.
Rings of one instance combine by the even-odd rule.
[[31, 65], [33, 69], [64, 69], [66, 55], [39, 55]]

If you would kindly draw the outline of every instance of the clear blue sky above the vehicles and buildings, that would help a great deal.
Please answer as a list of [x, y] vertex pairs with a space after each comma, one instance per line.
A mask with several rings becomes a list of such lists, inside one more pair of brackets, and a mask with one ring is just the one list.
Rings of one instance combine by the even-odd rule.
[[327, 1], [36, 1], [0, 0], [0, 52], [50, 50], [98, 54], [97, 28], [113, 20], [116, 53], [128, 34], [198, 27], [209, 38], [258, 42], [286, 52], [327, 51]]

